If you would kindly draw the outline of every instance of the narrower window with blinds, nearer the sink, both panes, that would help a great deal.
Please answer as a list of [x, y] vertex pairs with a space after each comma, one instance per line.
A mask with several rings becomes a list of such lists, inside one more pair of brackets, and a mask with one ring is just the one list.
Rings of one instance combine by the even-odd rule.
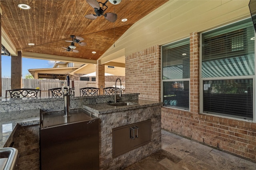
[[189, 38], [162, 46], [164, 106], [189, 109]]

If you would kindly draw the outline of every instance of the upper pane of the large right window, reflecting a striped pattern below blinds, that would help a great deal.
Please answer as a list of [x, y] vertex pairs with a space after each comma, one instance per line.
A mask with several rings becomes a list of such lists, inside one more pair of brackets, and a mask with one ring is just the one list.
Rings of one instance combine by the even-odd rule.
[[202, 78], [254, 75], [250, 19], [202, 33]]

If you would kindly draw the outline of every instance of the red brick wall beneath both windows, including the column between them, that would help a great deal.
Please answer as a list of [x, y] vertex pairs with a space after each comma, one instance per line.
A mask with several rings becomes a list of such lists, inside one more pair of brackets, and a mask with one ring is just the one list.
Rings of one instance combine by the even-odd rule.
[[162, 128], [256, 162], [256, 123], [200, 114], [199, 35], [190, 34], [190, 111], [162, 107]]

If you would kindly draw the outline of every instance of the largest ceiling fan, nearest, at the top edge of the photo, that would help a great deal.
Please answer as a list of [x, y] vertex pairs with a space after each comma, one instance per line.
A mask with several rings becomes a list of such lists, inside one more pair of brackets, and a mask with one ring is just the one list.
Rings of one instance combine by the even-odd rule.
[[[90, 20], [95, 20], [98, 16], [103, 15], [105, 17], [105, 19], [110, 21], [110, 22], [115, 22], [116, 21], [117, 14], [111, 13], [111, 12], [103, 14], [106, 11], [106, 9], [108, 9], [108, 6], [106, 6], [106, 3], [108, 2], [108, 0], [106, 0], [106, 2], [104, 2], [104, 3], [98, 2], [96, 0], [86, 0], [86, 2], [90, 6], [92, 6], [92, 8], [94, 8], [95, 14], [88, 14], [88, 15], [84, 16], [85, 18], [88, 18]], [[102, 5], [102, 7], [100, 7], [100, 4]], [[116, 4], [116, 3], [114, 3], [114, 4]], [[106, 8], [104, 9], [104, 7], [106, 7]]]

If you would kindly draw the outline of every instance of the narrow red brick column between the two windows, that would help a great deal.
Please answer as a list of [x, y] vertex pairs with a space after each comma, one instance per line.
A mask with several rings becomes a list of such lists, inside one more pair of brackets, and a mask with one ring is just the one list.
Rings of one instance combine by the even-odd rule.
[[199, 113], [199, 45], [197, 32], [190, 33], [190, 112]]

